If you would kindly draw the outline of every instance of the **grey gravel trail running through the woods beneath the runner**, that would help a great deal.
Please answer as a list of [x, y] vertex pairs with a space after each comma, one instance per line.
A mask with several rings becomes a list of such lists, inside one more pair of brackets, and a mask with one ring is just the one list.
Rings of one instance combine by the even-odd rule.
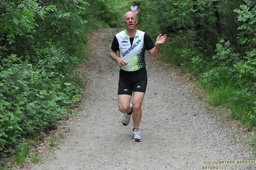
[[59, 149], [30, 169], [203, 169], [213, 162], [223, 169], [255, 169], [256, 164], [237, 164], [251, 160], [249, 144], [207, 111], [189, 81], [148, 54], [143, 141], [132, 141], [132, 123], [124, 127], [119, 122], [123, 116], [117, 107], [119, 66], [108, 54], [119, 31], [98, 29], [89, 36], [90, 68], [78, 68], [89, 79], [79, 120], [59, 141]]

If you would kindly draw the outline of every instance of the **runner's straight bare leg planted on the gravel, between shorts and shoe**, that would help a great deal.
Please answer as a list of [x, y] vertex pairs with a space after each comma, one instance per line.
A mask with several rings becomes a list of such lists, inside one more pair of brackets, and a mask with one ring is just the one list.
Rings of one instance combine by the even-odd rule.
[[139, 125], [141, 123], [142, 118], [142, 111], [141, 111], [141, 105], [144, 98], [145, 93], [142, 92], [134, 92], [133, 93], [133, 100], [132, 100], [132, 108], [133, 108], [133, 127], [139, 128]]

